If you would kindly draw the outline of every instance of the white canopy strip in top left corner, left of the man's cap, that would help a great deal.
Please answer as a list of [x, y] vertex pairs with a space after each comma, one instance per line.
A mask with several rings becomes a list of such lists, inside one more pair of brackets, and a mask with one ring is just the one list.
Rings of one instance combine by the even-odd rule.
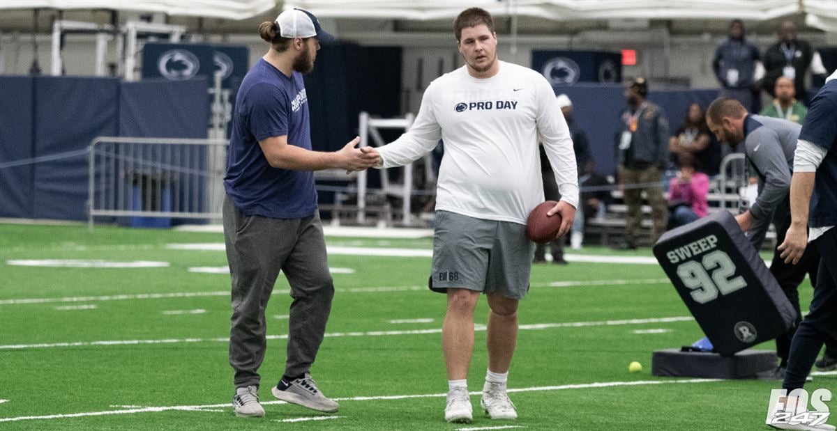
[[[344, 3], [345, 4], [345, 3]], [[120, 11], [140, 11], [166, 13], [172, 16], [244, 19], [270, 8], [275, 8], [275, 0], [3, 0], [3, 9], [53, 8], [70, 9], [110, 9]]]

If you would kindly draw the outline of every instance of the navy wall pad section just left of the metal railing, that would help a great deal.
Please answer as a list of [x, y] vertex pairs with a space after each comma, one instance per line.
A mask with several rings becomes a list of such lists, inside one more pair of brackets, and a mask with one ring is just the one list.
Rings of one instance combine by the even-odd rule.
[[[34, 79], [35, 156], [84, 150], [96, 136], [114, 136], [119, 80], [39, 77]], [[85, 220], [87, 157], [44, 161], [34, 169], [35, 218]]]

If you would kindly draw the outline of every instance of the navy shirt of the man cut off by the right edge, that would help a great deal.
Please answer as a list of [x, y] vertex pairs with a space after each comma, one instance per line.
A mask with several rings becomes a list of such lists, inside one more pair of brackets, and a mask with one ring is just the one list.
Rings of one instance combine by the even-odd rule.
[[814, 177], [809, 226], [837, 226], [837, 79], [811, 100], [799, 139], [828, 151]]

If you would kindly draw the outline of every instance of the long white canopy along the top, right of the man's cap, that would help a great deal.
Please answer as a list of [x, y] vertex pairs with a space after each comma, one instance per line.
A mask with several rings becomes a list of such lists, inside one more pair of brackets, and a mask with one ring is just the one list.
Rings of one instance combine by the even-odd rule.
[[837, 32], [837, 0], [286, 0], [323, 18], [452, 19], [465, 8], [485, 8], [495, 16], [554, 21], [642, 19], [733, 19], [767, 21], [804, 13], [806, 23]]

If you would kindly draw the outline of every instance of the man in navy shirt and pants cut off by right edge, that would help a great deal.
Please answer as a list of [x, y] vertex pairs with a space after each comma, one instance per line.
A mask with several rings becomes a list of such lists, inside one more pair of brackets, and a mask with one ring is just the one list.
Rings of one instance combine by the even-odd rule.
[[[775, 428], [786, 425], [776, 425], [779, 418], [787, 417], [776, 414], [778, 411], [793, 410], [793, 416], [807, 407], [800, 403], [801, 409], [796, 412], [795, 402], [803, 398], [797, 398], [792, 391], [803, 388], [824, 340], [837, 336], [837, 229], [834, 228], [837, 226], [837, 72], [811, 100], [794, 156], [790, 200], [793, 221], [785, 241], [778, 246], [781, 256], [786, 262], [796, 264], [811, 242], [822, 257], [808, 316], [799, 324], [790, 347], [788, 370], [782, 383], [788, 397], [779, 398], [778, 403], [769, 406], [767, 423]], [[820, 424], [810, 429], [834, 427]]]

